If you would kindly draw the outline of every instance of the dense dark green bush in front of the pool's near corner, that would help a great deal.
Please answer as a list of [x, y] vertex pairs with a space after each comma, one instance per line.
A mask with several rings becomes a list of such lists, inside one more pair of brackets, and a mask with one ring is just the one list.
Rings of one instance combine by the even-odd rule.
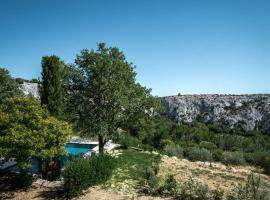
[[62, 172], [68, 197], [74, 197], [90, 186], [105, 182], [112, 174], [115, 159], [109, 155], [75, 158]]

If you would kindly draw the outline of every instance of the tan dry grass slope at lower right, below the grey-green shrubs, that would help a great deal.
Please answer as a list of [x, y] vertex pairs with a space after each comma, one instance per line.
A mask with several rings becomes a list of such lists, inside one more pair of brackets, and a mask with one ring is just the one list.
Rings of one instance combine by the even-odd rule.
[[[248, 175], [254, 171], [252, 167], [231, 167], [220, 163], [191, 162], [186, 159], [163, 156], [160, 164], [159, 176], [165, 177], [172, 174], [180, 181], [187, 181], [190, 177], [201, 183], [207, 184], [210, 189], [220, 188], [228, 194], [239, 183], [243, 183]], [[256, 170], [255, 170], [256, 171]], [[262, 180], [262, 186], [270, 195], [270, 177], [255, 173]]]

